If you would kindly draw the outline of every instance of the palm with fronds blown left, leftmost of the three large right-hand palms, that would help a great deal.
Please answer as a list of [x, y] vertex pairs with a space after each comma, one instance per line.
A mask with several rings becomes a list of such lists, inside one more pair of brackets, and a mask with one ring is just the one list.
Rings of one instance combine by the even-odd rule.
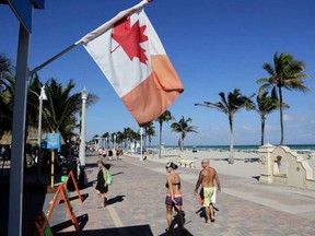
[[[255, 94], [254, 94], [255, 95]], [[233, 137], [233, 119], [234, 115], [241, 109], [254, 109], [254, 103], [250, 99], [254, 95], [250, 97], [244, 96], [241, 94], [238, 88], [235, 88], [232, 93], [230, 92], [228, 94], [228, 97], [225, 97], [225, 94], [223, 92], [219, 93], [219, 96], [221, 97], [220, 102], [217, 103], [210, 103], [210, 102], [203, 102], [203, 104], [195, 104], [195, 106], [205, 106], [209, 108], [218, 109], [219, 111], [224, 113], [229, 117], [229, 125], [230, 125], [230, 156], [229, 156], [229, 163], [233, 164], [233, 145], [234, 145], [234, 137]]]

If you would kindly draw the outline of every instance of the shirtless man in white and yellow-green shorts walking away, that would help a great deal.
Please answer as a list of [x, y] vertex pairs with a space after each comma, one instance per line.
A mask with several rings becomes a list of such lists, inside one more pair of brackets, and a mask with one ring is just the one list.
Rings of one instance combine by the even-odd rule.
[[198, 189], [201, 185], [203, 188], [203, 206], [206, 211], [206, 223], [214, 222], [213, 204], [211, 204], [211, 197], [214, 190], [214, 181], [218, 186], [218, 191], [221, 191], [220, 180], [217, 170], [210, 167], [208, 158], [201, 161], [202, 170], [199, 174], [199, 178], [196, 184], [195, 194], [198, 196]]

